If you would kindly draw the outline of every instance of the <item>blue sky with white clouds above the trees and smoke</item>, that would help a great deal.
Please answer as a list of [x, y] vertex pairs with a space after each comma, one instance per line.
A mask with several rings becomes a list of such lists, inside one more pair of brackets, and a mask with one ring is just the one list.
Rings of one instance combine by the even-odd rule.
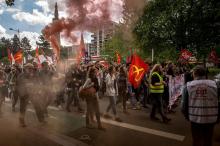
[[[36, 40], [41, 34], [41, 30], [52, 22], [54, 14], [54, 5], [58, 3], [60, 17], [67, 17], [65, 12], [64, 0], [15, 0], [15, 5], [8, 7], [5, 0], [0, 0], [0, 38], [11, 38], [14, 34], [18, 34], [14, 30], [20, 31], [20, 38], [27, 37], [30, 39], [32, 49], [36, 48]], [[121, 0], [110, 0], [112, 2], [111, 18], [113, 21], [119, 21], [121, 15]], [[80, 37], [80, 33], [77, 35]], [[89, 32], [84, 32], [85, 42], [90, 42]], [[69, 42], [61, 38], [61, 44], [64, 46], [71, 45]]]

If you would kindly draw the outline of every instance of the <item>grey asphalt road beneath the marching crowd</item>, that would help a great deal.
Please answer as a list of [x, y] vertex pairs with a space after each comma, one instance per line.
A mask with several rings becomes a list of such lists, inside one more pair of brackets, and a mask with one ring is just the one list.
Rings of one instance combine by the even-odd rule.
[[[106, 98], [100, 100], [102, 112], [107, 104]], [[76, 108], [67, 113], [50, 107], [48, 122], [41, 125], [29, 105], [26, 128], [19, 127], [19, 114], [11, 112], [10, 102], [4, 103], [2, 111], [0, 146], [190, 146], [192, 143], [190, 124], [178, 109], [168, 115], [172, 121], [164, 124], [150, 120], [150, 109], [129, 109], [129, 114], [124, 114], [118, 106], [117, 112], [123, 122], [103, 119], [105, 131], [85, 128], [85, 115]], [[220, 145], [220, 125], [215, 127], [213, 144]]]

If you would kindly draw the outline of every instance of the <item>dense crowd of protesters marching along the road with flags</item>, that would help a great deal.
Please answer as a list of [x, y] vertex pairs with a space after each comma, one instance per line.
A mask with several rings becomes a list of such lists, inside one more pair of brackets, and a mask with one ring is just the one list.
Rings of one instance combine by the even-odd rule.
[[[199, 67], [196, 74], [204, 79], [202, 85], [207, 84], [204, 87], [209, 87], [205, 81], [207, 70], [204, 72], [203, 70], [203, 67]], [[94, 128], [94, 117], [101, 130], [105, 130], [100, 120], [101, 116], [123, 122], [118, 114], [119, 107], [122, 107], [124, 114], [129, 114], [129, 110], [151, 108], [150, 115], [146, 116], [153, 121], [161, 120], [167, 124], [172, 120], [168, 114], [175, 113], [181, 105], [181, 95], [184, 89], [182, 111], [186, 119], [193, 122], [194, 128], [198, 129], [198, 124], [195, 123], [200, 121], [193, 117], [196, 112], [192, 110], [194, 115], [190, 115], [189, 110], [186, 109], [200, 107], [199, 105], [192, 107], [194, 104], [188, 105], [189, 98], [194, 96], [192, 95], [194, 91], [195, 94], [198, 92], [195, 89], [191, 91], [188, 87], [193, 86], [191, 85], [195, 79], [193, 73], [194, 70], [189, 64], [174, 64], [171, 61], [153, 64], [143, 61], [135, 53], [128, 63], [106, 62], [102, 64], [97, 61], [73, 64], [64, 73], [60, 73], [55, 65], [48, 61], [41, 64], [37, 62], [22, 65], [15, 63], [1, 66], [0, 108], [5, 98], [8, 98], [12, 103], [12, 111], [16, 112], [15, 107], [19, 101], [19, 122], [22, 127], [26, 126], [25, 113], [29, 103], [33, 105], [39, 122], [43, 124], [46, 123], [49, 105], [62, 108], [66, 112], [71, 112], [74, 107], [77, 108], [79, 113], [85, 113], [87, 128]], [[205, 89], [205, 92], [201, 91], [201, 94], [208, 93], [210, 98], [215, 98], [217, 86], [214, 81], [209, 81], [212, 84], [210, 87], [212, 91]], [[109, 100], [105, 111], [100, 110], [100, 101], [103, 98]], [[84, 102], [86, 106], [83, 106]], [[212, 113], [214, 117], [211, 120], [212, 130], [214, 123], [219, 120], [218, 104], [219, 101], [216, 98], [215, 114]], [[209, 103], [209, 106], [212, 106], [212, 103]], [[1, 110], [1, 112], [4, 111]], [[206, 123], [206, 121], [207, 118], [202, 122]]]

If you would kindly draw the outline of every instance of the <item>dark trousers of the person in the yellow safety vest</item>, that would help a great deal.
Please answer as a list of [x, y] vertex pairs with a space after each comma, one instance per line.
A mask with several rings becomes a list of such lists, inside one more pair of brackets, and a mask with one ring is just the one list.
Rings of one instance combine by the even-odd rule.
[[162, 104], [162, 96], [163, 94], [160, 93], [151, 93], [151, 102], [152, 102], [152, 110], [151, 110], [151, 117], [156, 116], [156, 111], [158, 110], [161, 117], [164, 119], [165, 115], [163, 112], [163, 104]]

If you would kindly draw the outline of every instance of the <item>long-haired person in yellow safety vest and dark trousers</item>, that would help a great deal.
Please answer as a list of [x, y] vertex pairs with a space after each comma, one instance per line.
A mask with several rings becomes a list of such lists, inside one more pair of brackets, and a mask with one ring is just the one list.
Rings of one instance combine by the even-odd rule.
[[156, 110], [158, 109], [159, 114], [162, 117], [164, 123], [168, 123], [171, 119], [167, 118], [163, 112], [163, 104], [162, 104], [162, 97], [164, 93], [164, 85], [165, 82], [163, 81], [162, 74], [162, 67], [160, 64], [154, 65], [153, 69], [150, 73], [150, 96], [152, 101], [152, 110], [150, 114], [150, 118], [152, 120], [159, 120], [156, 117]]

